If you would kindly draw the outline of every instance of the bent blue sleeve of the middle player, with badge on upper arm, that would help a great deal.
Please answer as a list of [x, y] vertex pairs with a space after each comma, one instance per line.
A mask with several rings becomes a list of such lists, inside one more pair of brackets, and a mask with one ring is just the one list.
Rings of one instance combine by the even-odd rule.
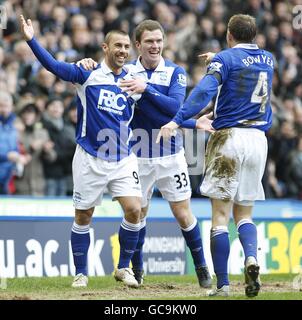
[[152, 84], [148, 84], [144, 92], [144, 97], [149, 99], [160, 112], [174, 117], [184, 101], [186, 85], [185, 70], [177, 67], [171, 77], [167, 95], [156, 90]]

